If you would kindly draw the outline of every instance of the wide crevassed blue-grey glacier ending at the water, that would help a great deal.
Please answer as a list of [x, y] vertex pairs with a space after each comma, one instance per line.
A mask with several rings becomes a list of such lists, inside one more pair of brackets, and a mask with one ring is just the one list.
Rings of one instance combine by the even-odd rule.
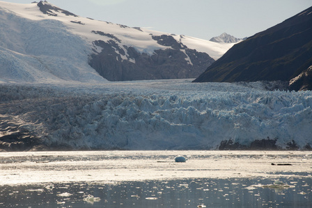
[[[116, 83], [4, 83], [0, 115], [48, 147], [216, 150], [274, 139], [312, 144], [312, 92], [268, 91], [257, 83], [149, 80]], [[2, 132], [3, 134], [3, 132]]]

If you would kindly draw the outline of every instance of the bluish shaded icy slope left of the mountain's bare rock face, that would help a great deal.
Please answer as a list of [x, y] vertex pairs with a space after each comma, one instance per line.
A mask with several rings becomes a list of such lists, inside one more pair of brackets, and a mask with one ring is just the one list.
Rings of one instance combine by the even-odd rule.
[[[25, 12], [29, 15], [25, 16]], [[91, 47], [81, 37], [70, 33], [61, 21], [41, 16], [29, 19], [30, 14], [39, 12], [36, 3], [0, 1], [0, 81], [105, 81], [88, 65]]]

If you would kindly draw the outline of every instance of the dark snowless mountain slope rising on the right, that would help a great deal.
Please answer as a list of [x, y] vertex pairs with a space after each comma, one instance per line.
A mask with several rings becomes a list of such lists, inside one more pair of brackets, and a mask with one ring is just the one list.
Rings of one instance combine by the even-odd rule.
[[281, 80], [312, 89], [312, 7], [235, 44], [195, 83]]

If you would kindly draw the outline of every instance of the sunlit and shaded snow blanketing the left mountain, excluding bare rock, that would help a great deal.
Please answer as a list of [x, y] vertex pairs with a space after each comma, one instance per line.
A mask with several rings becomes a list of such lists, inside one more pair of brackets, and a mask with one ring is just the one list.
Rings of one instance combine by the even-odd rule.
[[[42, 5], [55, 7], [44, 1]], [[102, 51], [95, 45], [98, 40], [114, 41], [125, 51], [119, 54], [122, 60], [130, 62], [134, 60], [125, 46], [149, 55], [157, 49], [171, 49], [158, 44], [153, 35], [171, 35], [180, 44], [208, 53], [214, 59], [233, 46], [68, 15], [60, 8], [50, 12], [53, 15], [44, 14], [37, 3], [0, 1], [0, 82], [105, 82], [107, 80], [88, 64], [91, 54]]]

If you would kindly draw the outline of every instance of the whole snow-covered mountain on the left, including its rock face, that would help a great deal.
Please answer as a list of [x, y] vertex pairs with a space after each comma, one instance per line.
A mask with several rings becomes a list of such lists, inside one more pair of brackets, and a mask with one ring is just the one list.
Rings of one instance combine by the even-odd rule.
[[47, 1], [0, 1], [3, 81], [196, 77], [232, 45], [79, 17]]

